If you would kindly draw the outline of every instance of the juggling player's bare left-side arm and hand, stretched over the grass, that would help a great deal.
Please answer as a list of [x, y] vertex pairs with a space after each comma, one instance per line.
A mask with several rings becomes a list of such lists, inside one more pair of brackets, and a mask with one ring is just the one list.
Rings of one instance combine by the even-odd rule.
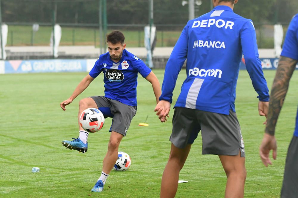
[[89, 85], [90, 83], [94, 80], [93, 77], [91, 77], [89, 74], [81, 80], [81, 82], [77, 85], [75, 88], [75, 91], [72, 93], [72, 95], [64, 100], [63, 102], [60, 103], [60, 107], [63, 109], [63, 111], [66, 111], [65, 106], [72, 103], [72, 101], [80, 95]]

